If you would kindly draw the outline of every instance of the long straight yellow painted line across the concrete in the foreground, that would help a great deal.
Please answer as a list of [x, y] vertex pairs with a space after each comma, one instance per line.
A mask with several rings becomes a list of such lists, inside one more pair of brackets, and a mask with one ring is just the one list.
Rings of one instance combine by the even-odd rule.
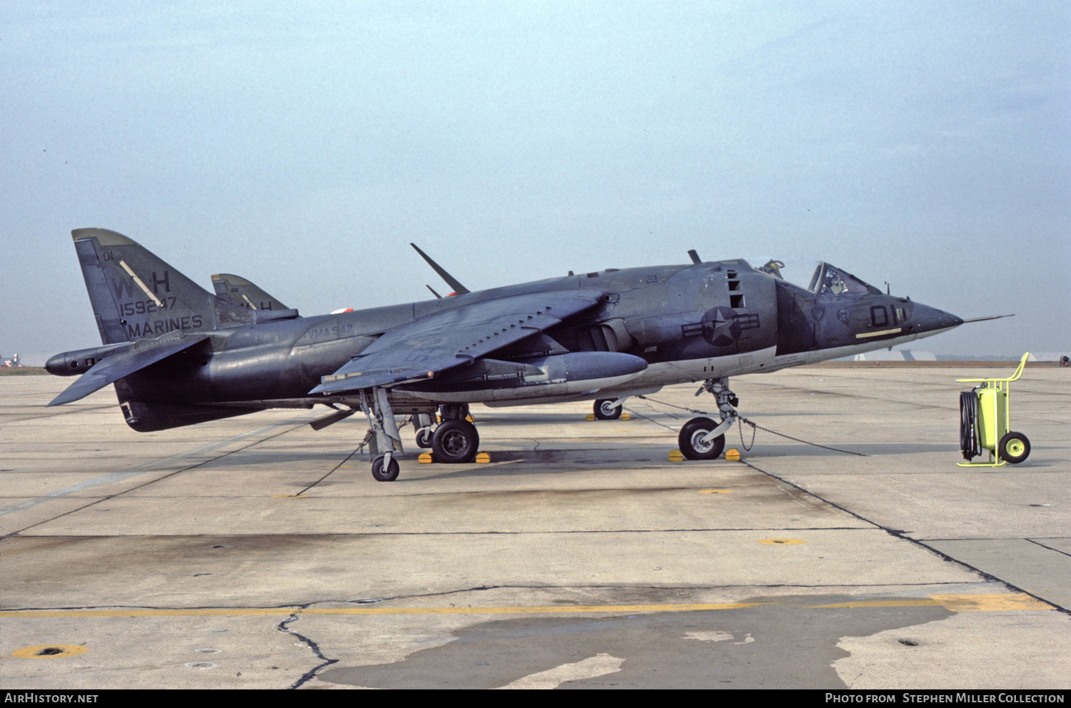
[[[996, 609], [1052, 609], [1050, 605], [1022, 592], [996, 594], [932, 594], [929, 600], [858, 600], [827, 605], [802, 605], [821, 608], [926, 607], [941, 605], [952, 612]], [[654, 613], [742, 609], [776, 602], [723, 602], [680, 605], [553, 605], [534, 607], [214, 607], [191, 609], [4, 609], [0, 618], [47, 617], [256, 617], [265, 615], [559, 615], [569, 613]], [[791, 603], [796, 604], [796, 603]], [[42, 649], [44, 647], [30, 647]], [[54, 645], [58, 646], [58, 645]]]

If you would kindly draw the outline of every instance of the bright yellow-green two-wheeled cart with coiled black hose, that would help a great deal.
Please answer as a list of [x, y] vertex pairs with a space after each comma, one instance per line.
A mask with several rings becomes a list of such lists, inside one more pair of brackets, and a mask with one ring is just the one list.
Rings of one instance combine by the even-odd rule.
[[[1030, 441], [1014, 433], [1008, 422], [1008, 392], [1012, 381], [1023, 375], [1030, 352], [1023, 355], [1011, 378], [957, 378], [960, 383], [978, 383], [960, 393], [960, 450], [967, 462], [960, 467], [1000, 467], [1006, 462], [1015, 465], [1030, 454]], [[970, 462], [990, 451], [989, 462]]]

